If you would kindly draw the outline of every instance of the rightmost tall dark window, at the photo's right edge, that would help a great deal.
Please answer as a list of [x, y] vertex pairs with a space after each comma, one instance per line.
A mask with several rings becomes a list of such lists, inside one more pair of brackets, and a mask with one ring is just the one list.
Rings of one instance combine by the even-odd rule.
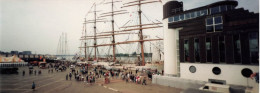
[[250, 61], [251, 63], [258, 63], [259, 59], [259, 45], [258, 45], [258, 33], [249, 33], [249, 51], [250, 51]]

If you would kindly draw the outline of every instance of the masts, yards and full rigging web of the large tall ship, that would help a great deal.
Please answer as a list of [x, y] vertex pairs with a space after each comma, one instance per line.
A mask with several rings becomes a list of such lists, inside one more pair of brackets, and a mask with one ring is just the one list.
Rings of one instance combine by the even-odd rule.
[[[151, 38], [149, 35], [144, 35], [144, 31], [162, 28], [162, 22], [148, 19], [142, 11], [143, 5], [160, 3], [160, 1], [135, 0], [123, 3], [123, 6], [121, 6], [120, 9], [115, 6], [118, 5], [116, 3], [122, 3], [122, 1], [111, 0], [99, 4], [94, 3], [90, 11], [86, 14], [83, 23], [82, 37], [80, 38], [82, 41], [80, 50], [84, 51], [84, 58], [81, 58], [82, 61], [112, 62], [120, 64], [134, 63], [134, 66], [146, 66], [146, 63], [152, 63], [152, 60], [157, 61], [157, 63], [163, 63], [162, 60], [160, 60], [163, 56], [161, 48], [163, 46], [160, 45], [163, 39], [159, 36]], [[103, 5], [109, 5], [111, 10], [109, 12], [101, 13], [102, 10], [97, 10], [97, 7]], [[122, 10], [127, 8], [136, 8], [137, 11], [131, 12]], [[135, 15], [135, 13], [137, 15]], [[126, 21], [123, 26], [119, 26], [117, 22], [122, 20], [118, 20], [115, 17], [126, 14], [130, 14], [130, 20]], [[148, 22], [144, 21], [144, 19], [147, 19]], [[91, 27], [88, 28], [89, 26]], [[100, 31], [100, 28], [105, 29]], [[123, 40], [125, 37], [128, 38]], [[154, 41], [155, 43], [152, 43], [151, 41]], [[145, 53], [145, 42], [148, 42], [148, 46], [150, 43], [150, 53]], [[122, 47], [123, 45], [127, 46]], [[137, 46], [135, 47], [136, 51], [133, 51], [135, 50], [132, 48], [133, 45]], [[151, 46], [153, 46], [153, 50], [156, 51], [156, 54], [153, 56], [160, 56], [157, 57], [159, 60], [155, 60], [154, 58], [156, 57], [152, 56]], [[119, 48], [128, 51], [129, 54], [120, 55], [118, 52]], [[102, 52], [102, 56], [100, 55], [100, 52]], [[83, 55], [82, 52], [80, 52], [80, 54]], [[122, 60], [120, 57], [122, 55], [126, 58], [132, 58], [135, 60]], [[146, 57], [150, 58], [149, 61], [146, 61], [148, 60]]]

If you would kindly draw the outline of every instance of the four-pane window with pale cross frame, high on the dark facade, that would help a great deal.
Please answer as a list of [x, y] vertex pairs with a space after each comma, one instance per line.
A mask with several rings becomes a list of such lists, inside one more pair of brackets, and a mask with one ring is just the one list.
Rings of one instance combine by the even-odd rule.
[[210, 17], [206, 19], [206, 31], [215, 32], [223, 30], [222, 16]]

